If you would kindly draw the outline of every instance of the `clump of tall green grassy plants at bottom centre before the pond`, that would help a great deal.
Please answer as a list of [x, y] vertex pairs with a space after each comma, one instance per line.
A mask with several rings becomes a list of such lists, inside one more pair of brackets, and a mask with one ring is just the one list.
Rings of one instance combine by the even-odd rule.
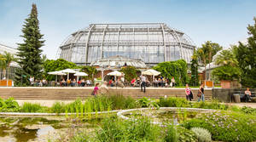
[[103, 120], [102, 127], [96, 131], [96, 140], [112, 141], [160, 141], [160, 127], [141, 118], [125, 121], [113, 118]]

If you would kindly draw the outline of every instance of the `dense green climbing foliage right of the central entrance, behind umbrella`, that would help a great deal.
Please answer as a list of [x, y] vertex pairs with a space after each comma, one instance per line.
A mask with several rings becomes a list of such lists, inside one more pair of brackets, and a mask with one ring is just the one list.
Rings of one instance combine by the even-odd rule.
[[154, 66], [154, 70], [160, 71], [161, 76], [169, 80], [174, 77], [178, 86], [185, 85], [189, 82], [188, 66], [185, 60], [166, 61]]

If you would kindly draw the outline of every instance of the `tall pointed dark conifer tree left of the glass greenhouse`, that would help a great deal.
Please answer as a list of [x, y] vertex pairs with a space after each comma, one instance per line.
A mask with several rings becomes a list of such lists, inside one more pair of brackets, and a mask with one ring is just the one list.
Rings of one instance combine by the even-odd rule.
[[44, 46], [43, 36], [39, 30], [38, 10], [36, 4], [32, 4], [31, 14], [24, 22], [22, 32], [24, 43], [18, 43], [18, 64], [21, 70], [16, 73], [15, 84], [20, 84], [21, 75], [23, 82], [29, 84], [28, 77], [39, 79], [42, 76], [42, 59], [40, 49]]

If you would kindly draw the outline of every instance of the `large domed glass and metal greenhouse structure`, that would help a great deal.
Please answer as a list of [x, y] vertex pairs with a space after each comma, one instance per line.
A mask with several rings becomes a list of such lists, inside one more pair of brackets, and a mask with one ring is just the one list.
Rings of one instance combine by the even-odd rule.
[[189, 62], [195, 44], [165, 23], [90, 24], [61, 43], [58, 57], [78, 65], [111, 56], [140, 59], [152, 66], [164, 61]]

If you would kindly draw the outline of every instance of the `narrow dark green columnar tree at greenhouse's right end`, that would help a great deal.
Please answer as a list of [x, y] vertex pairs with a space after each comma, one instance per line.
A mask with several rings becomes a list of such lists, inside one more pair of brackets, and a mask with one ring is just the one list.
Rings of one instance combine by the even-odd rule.
[[192, 56], [191, 60], [191, 79], [190, 79], [190, 85], [192, 86], [198, 86], [199, 85], [199, 76], [198, 76], [198, 60], [197, 55], [194, 54]]

